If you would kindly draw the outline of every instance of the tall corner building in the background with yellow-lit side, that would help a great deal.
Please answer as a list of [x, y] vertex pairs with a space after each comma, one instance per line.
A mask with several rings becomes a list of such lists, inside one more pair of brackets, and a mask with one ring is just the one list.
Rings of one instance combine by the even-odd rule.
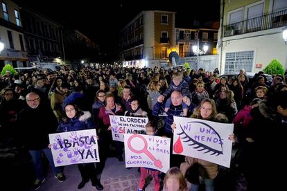
[[123, 65], [150, 68], [166, 65], [175, 43], [175, 12], [140, 12], [121, 31]]

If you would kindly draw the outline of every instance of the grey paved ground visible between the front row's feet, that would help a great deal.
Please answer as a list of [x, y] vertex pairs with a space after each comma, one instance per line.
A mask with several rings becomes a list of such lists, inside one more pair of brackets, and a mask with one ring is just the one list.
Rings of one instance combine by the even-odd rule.
[[[46, 176], [46, 181], [42, 184], [40, 191], [76, 191], [78, 190], [78, 183], [80, 183], [80, 173], [78, 172], [78, 167], [76, 165], [69, 165], [64, 168], [64, 174], [67, 176], [67, 180], [60, 183], [55, 179], [49, 170]], [[216, 190], [230, 190], [231, 178], [228, 174], [221, 174], [218, 176], [216, 185]], [[139, 173], [137, 168], [126, 169], [124, 162], [119, 162], [116, 158], [107, 158], [105, 169], [102, 174], [101, 183], [104, 186], [104, 190], [113, 191], [134, 191], [137, 190], [137, 185], [139, 182]], [[96, 190], [91, 185], [91, 182], [87, 183], [82, 191]], [[146, 191], [153, 190], [153, 181], [147, 186]], [[236, 191], [246, 190], [245, 179], [241, 176], [236, 181]]]

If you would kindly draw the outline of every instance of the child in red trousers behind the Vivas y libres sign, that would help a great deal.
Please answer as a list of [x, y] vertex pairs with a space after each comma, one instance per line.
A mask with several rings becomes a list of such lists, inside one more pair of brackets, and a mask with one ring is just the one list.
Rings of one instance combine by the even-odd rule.
[[[156, 133], [157, 133], [157, 130], [155, 128], [154, 123], [151, 121], [148, 122], [146, 124], [146, 134], [150, 135], [150, 136], [155, 136]], [[158, 191], [159, 187], [160, 187], [159, 171], [151, 169], [151, 168], [146, 168], [146, 167], [141, 167], [141, 177], [139, 178], [139, 189], [138, 189], [138, 191], [143, 190], [143, 186], [146, 182], [146, 177], [148, 176], [148, 174], [153, 176], [153, 188], [154, 188], [154, 190]]]

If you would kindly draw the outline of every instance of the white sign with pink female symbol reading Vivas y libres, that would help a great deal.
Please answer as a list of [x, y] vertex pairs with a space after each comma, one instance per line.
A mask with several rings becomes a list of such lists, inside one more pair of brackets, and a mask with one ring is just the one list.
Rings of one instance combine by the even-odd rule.
[[166, 173], [171, 138], [125, 134], [125, 167], [148, 167]]

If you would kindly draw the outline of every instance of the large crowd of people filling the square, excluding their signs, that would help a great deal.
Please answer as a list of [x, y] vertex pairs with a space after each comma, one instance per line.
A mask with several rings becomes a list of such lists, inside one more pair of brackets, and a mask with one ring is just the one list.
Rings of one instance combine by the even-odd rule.
[[[279, 169], [262, 170], [261, 164], [285, 166], [281, 153], [287, 124], [287, 77], [275, 75], [270, 84], [263, 72], [252, 79], [244, 69], [235, 78], [218, 75], [218, 69], [119, 65], [17, 75], [6, 71], [0, 76], [1, 150], [26, 150], [30, 154], [33, 189], [37, 190], [45, 180], [43, 153], [55, 178], [60, 182], [66, 179], [63, 168], [53, 163], [48, 135], [96, 129], [101, 162], [78, 165], [82, 177], [78, 189], [91, 180], [94, 187], [103, 190], [101, 173], [106, 158], [123, 161], [124, 149], [122, 142], [112, 140], [109, 116], [148, 117], [146, 134], [166, 136], [171, 143], [176, 128], [173, 116], [191, 117], [234, 123], [229, 139], [238, 151], [236, 168], [244, 174], [248, 190], [258, 190], [264, 180], [278, 181], [280, 177], [272, 174], [278, 174]], [[171, 154], [171, 169], [166, 174], [140, 169], [138, 190], [144, 189], [148, 174], [153, 176], [155, 190], [187, 190], [186, 181], [191, 183], [191, 190], [199, 190], [202, 184], [205, 190], [214, 190], [218, 169], [219, 165], [208, 161]]]

